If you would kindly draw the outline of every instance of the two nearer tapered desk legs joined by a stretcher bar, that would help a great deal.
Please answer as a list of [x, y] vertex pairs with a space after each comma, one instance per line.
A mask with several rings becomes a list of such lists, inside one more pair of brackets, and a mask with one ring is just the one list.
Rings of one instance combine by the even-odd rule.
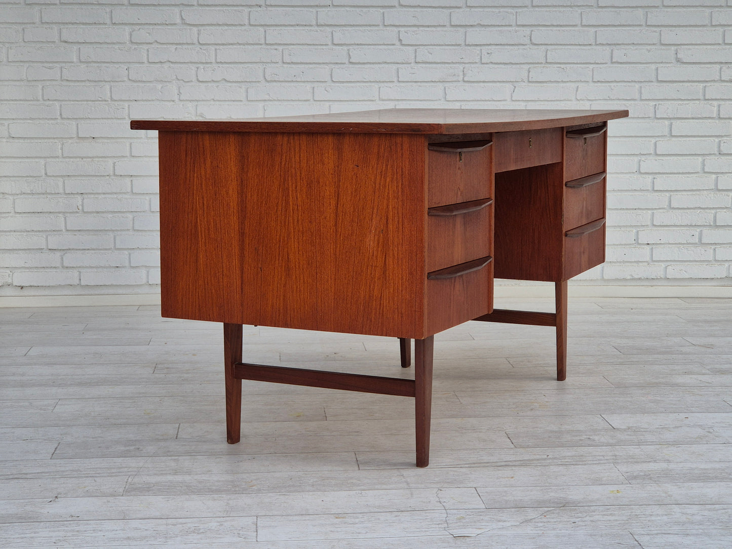
[[[408, 360], [409, 340], [404, 340], [402, 364]], [[430, 418], [432, 415], [433, 336], [414, 341], [414, 380], [364, 376], [354, 373], [305, 370], [242, 362], [242, 325], [224, 324], [224, 369], [226, 378], [226, 440], [239, 442], [242, 425], [242, 379], [288, 385], [370, 392], [379, 395], [414, 397], [417, 439], [417, 467], [430, 461]]]

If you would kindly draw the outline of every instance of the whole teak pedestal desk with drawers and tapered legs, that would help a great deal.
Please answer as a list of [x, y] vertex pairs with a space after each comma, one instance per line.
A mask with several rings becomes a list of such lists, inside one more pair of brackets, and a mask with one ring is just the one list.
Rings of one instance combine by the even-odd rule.
[[[414, 397], [429, 461], [433, 335], [556, 326], [605, 261], [607, 122], [628, 111], [389, 109], [158, 130], [163, 316], [224, 323], [226, 426], [242, 379]], [[556, 283], [556, 313], [493, 310], [493, 277]], [[414, 381], [242, 362], [242, 324], [415, 340]]]

